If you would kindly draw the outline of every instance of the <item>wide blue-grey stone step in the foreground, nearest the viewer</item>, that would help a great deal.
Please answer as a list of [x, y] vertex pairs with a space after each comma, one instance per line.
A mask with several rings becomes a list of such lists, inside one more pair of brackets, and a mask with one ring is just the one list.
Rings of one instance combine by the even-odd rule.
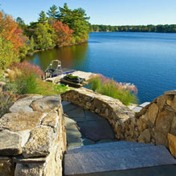
[[109, 142], [67, 151], [65, 176], [174, 176], [176, 160], [164, 146]]

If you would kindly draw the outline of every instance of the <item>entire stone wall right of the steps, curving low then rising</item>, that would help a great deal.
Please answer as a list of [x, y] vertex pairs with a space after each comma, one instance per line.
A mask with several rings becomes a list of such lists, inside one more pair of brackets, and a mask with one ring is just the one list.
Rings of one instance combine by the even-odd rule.
[[80, 88], [62, 95], [108, 119], [116, 138], [169, 146], [176, 156], [176, 91], [166, 92], [135, 114], [120, 101]]

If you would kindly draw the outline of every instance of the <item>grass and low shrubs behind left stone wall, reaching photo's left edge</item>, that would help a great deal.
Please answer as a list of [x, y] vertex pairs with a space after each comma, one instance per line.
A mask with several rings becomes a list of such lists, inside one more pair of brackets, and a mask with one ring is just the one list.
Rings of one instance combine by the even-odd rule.
[[40, 68], [29, 63], [13, 64], [8, 79], [4, 79], [3, 72], [0, 71], [0, 81], [6, 83], [0, 92], [0, 117], [8, 112], [22, 94], [58, 95], [68, 90], [65, 85], [44, 82], [42, 76]]

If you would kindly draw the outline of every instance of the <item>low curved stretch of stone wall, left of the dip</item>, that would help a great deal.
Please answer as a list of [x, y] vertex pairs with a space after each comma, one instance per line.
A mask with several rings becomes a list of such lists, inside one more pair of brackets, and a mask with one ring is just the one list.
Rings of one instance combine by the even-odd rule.
[[132, 128], [128, 129], [128, 122], [135, 122], [135, 113], [117, 99], [80, 88], [62, 94], [62, 100], [77, 104], [106, 118], [119, 140], [127, 139], [128, 133], [133, 131]]

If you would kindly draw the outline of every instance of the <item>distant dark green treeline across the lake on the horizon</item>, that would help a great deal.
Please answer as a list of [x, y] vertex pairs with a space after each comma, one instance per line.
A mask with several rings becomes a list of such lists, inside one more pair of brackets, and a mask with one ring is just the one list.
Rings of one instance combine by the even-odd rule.
[[163, 32], [175, 33], [176, 24], [171, 25], [126, 25], [126, 26], [110, 26], [110, 25], [91, 25], [92, 32]]

